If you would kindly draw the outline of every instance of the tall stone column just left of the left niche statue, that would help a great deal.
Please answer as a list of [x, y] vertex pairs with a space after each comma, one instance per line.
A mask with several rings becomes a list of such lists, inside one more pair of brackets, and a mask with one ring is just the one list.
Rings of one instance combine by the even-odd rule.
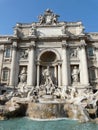
[[15, 86], [16, 60], [17, 60], [16, 50], [17, 50], [17, 42], [13, 42], [11, 73], [10, 73], [10, 86]]

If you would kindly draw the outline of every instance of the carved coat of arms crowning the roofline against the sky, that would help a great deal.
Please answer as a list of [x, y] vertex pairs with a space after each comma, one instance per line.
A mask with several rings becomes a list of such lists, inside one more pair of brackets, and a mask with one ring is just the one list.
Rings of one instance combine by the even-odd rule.
[[39, 19], [39, 23], [40, 23], [40, 24], [50, 25], [50, 24], [57, 24], [57, 22], [58, 22], [58, 17], [59, 17], [59, 15], [54, 14], [54, 13], [52, 12], [52, 10], [47, 9], [47, 10], [44, 12], [44, 15], [38, 16], [38, 19]]

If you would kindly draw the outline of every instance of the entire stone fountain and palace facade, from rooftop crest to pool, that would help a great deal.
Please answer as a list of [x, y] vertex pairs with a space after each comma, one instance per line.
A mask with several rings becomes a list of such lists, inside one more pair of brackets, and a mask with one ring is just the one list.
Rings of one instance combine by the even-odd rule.
[[50, 9], [38, 18], [0, 36], [1, 115], [24, 105], [33, 118], [97, 118], [98, 33], [59, 22]]

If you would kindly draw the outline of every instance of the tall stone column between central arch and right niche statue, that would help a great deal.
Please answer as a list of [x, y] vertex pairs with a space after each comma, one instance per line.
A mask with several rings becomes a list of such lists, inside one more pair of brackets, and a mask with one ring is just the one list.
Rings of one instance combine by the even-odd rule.
[[62, 86], [68, 86], [68, 60], [67, 60], [67, 48], [66, 41], [62, 44]]

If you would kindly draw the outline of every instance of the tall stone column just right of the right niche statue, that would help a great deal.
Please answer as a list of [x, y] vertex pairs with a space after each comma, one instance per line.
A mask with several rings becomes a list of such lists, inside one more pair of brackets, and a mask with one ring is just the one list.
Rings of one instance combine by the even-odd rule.
[[85, 50], [86, 43], [84, 40], [81, 40], [80, 46], [80, 82], [83, 85], [89, 85], [89, 76], [88, 76], [88, 65], [87, 65], [87, 55]]

